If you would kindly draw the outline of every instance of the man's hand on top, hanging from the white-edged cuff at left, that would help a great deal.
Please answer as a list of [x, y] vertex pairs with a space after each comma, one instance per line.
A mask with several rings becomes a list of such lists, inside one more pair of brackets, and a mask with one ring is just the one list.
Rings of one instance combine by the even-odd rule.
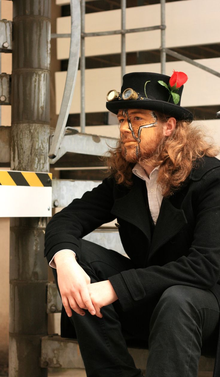
[[85, 314], [82, 309], [88, 309], [92, 315], [96, 314], [88, 291], [90, 277], [77, 263], [74, 253], [62, 250], [55, 255], [54, 261], [62, 303], [68, 317], [72, 315], [71, 308], [82, 316]]

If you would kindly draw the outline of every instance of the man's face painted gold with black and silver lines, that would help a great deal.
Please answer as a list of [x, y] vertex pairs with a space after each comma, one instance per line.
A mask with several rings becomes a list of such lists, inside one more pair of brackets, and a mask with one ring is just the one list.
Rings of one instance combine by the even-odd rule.
[[122, 153], [135, 162], [143, 154], [152, 153], [158, 144], [158, 120], [151, 110], [125, 109], [118, 112]]

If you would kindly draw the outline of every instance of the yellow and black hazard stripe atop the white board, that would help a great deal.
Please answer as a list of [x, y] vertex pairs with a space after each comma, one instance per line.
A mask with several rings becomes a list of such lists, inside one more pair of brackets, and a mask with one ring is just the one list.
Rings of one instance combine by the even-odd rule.
[[51, 187], [52, 173], [8, 172], [0, 170], [0, 185]]

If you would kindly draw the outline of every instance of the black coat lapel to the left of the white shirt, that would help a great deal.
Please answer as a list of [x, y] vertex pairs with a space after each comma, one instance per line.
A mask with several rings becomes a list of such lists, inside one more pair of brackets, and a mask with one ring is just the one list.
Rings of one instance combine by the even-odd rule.
[[151, 231], [145, 181], [134, 176], [134, 185], [127, 195], [115, 200], [111, 213], [138, 227], [150, 244]]

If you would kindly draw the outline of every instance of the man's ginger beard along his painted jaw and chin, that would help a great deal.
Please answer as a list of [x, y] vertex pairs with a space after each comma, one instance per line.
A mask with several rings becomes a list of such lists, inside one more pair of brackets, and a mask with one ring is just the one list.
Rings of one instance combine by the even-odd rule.
[[135, 146], [124, 147], [121, 144], [121, 154], [127, 162], [141, 162], [151, 159], [157, 154], [158, 146], [161, 145], [161, 141], [164, 139], [163, 132], [160, 127], [156, 130], [154, 137], [149, 139], [141, 138], [140, 143], [137, 142]]

